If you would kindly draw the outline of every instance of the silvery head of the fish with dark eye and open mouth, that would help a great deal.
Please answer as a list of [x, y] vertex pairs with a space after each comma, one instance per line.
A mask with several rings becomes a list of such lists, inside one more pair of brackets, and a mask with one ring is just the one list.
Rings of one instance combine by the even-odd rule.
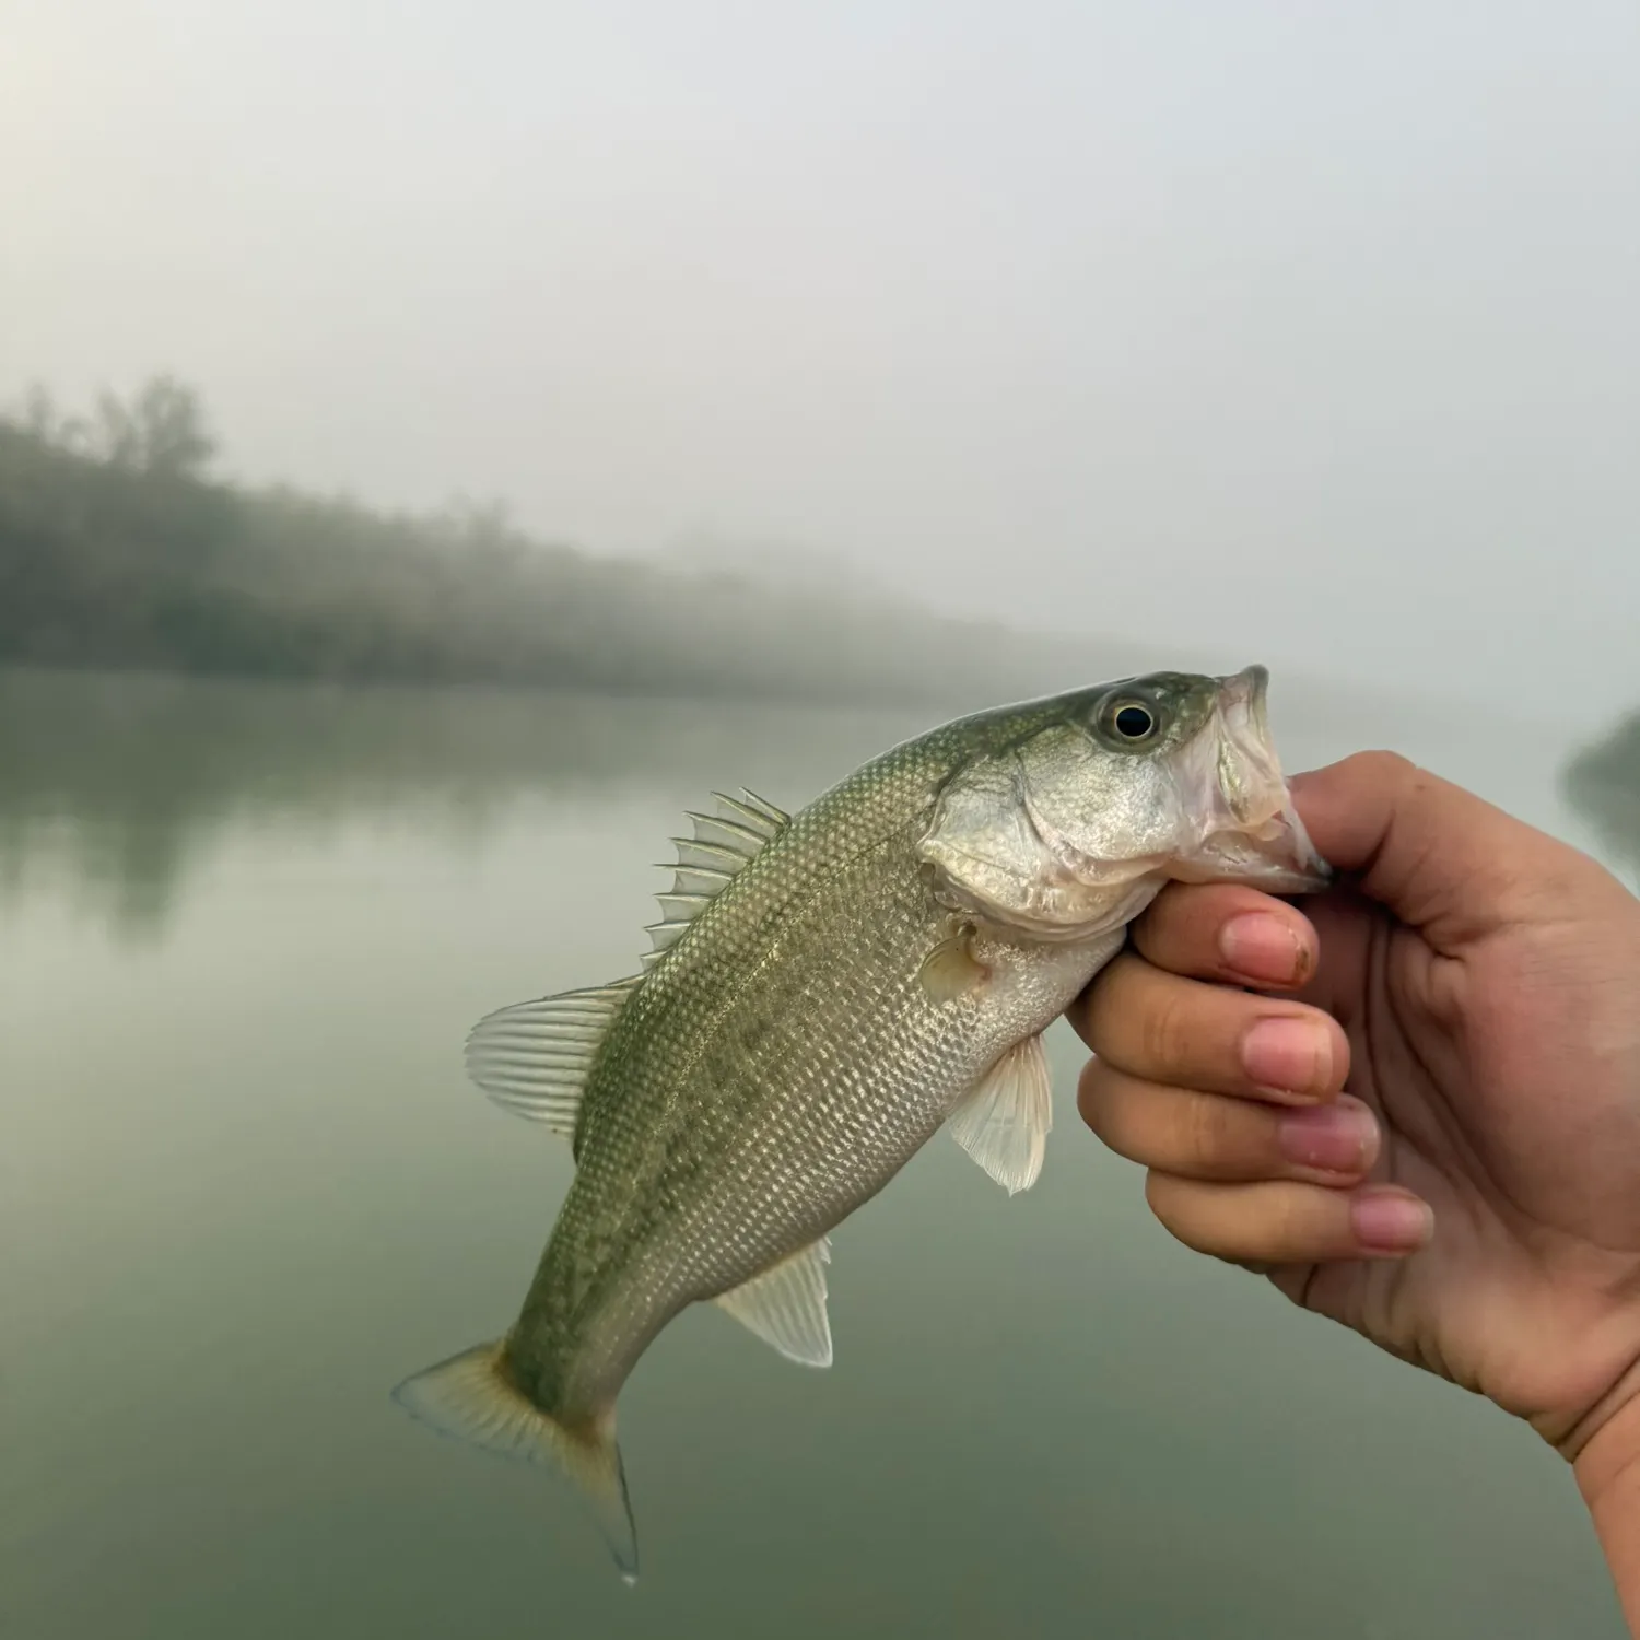
[[1330, 877], [1269, 738], [1269, 674], [1151, 672], [992, 718], [922, 840], [946, 904], [1045, 940], [1118, 927], [1169, 877]]

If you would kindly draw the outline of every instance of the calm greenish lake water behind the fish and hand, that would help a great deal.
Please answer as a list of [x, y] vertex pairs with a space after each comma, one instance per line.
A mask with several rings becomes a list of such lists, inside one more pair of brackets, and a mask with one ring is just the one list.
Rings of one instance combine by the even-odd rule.
[[[1543, 730], [1361, 700], [1591, 846]], [[1058, 1125], [936, 1140], [835, 1237], [836, 1366], [715, 1312], [622, 1402], [645, 1555], [412, 1424], [512, 1319], [567, 1150], [462, 1079], [487, 1009], [628, 973], [717, 784], [812, 797], [923, 717], [0, 677], [0, 1633], [1622, 1633], [1524, 1428], [1197, 1260]]]

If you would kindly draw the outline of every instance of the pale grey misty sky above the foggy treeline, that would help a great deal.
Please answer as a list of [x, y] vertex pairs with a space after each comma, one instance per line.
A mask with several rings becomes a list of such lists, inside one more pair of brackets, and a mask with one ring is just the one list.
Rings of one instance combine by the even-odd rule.
[[1633, 0], [0, 0], [0, 397], [590, 549], [1609, 717], [1637, 308]]

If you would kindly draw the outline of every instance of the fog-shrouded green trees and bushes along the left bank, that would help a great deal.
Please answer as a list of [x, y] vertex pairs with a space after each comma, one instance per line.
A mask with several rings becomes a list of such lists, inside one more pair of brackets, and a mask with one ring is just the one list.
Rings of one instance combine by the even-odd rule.
[[597, 558], [497, 507], [249, 490], [213, 453], [169, 377], [0, 420], [0, 664], [861, 702], [1076, 681], [1002, 628]]

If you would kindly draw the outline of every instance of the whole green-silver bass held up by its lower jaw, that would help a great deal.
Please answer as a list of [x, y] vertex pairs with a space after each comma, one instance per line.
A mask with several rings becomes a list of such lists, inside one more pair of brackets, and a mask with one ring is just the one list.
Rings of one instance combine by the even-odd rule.
[[1043, 1032], [1173, 879], [1330, 879], [1269, 672], [1150, 672], [956, 718], [797, 813], [713, 794], [636, 973], [485, 1015], [471, 1079], [576, 1174], [512, 1327], [413, 1417], [579, 1481], [628, 1583], [615, 1402], [690, 1304], [831, 1364], [831, 1232], [941, 1128], [1010, 1196], [1053, 1123]]

